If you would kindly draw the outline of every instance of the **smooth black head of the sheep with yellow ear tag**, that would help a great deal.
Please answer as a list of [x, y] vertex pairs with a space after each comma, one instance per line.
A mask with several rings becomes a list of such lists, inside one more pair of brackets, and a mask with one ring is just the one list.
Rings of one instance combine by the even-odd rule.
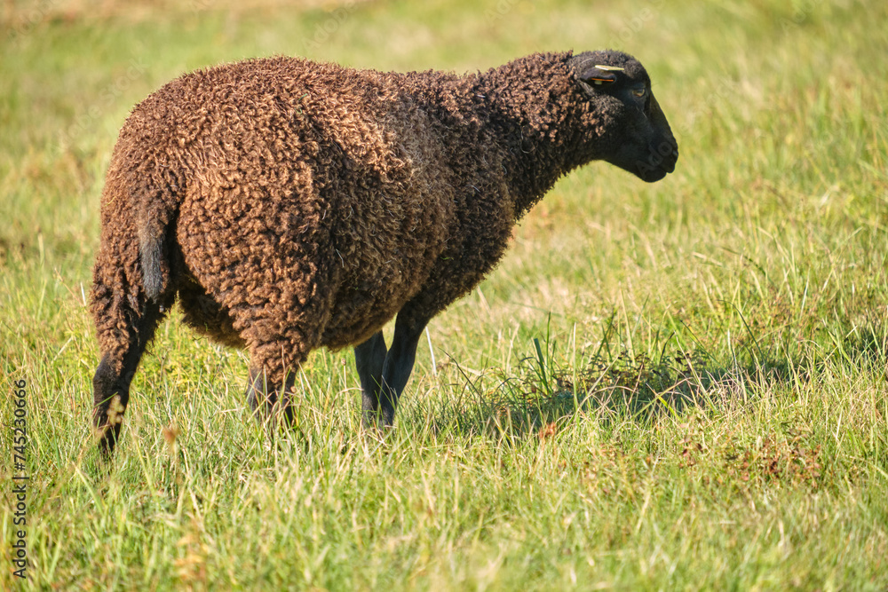
[[638, 60], [620, 51], [586, 51], [574, 56], [571, 66], [589, 105], [591, 157], [648, 183], [675, 170], [678, 144]]

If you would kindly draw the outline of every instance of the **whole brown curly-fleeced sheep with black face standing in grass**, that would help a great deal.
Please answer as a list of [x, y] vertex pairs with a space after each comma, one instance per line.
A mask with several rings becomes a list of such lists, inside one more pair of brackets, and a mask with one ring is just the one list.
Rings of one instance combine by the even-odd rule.
[[133, 108], [101, 195], [99, 450], [177, 300], [197, 332], [249, 351], [260, 421], [292, 420], [310, 351], [354, 346], [362, 421], [392, 426], [426, 324], [559, 177], [603, 160], [654, 182], [677, 159], [645, 68], [620, 51], [469, 75], [274, 57], [173, 80]]

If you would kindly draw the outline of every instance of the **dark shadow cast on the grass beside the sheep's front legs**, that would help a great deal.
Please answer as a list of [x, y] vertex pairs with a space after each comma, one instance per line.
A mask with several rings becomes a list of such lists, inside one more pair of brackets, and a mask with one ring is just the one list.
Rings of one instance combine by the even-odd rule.
[[[861, 334], [845, 355], [884, 360], [888, 340], [878, 341], [878, 335]], [[434, 418], [432, 430], [521, 440], [545, 438], [577, 415], [604, 424], [653, 425], [663, 416], [742, 404], [763, 391], [807, 383], [813, 369], [810, 359], [769, 358], [762, 351], [752, 360], [713, 366], [705, 351], [665, 348], [656, 359], [621, 351], [614, 358], [597, 354], [583, 367], [565, 368], [536, 345], [537, 355], [521, 360], [510, 375], [497, 369], [470, 375], [456, 365], [458, 380], [451, 383], [456, 394], [427, 410]]]

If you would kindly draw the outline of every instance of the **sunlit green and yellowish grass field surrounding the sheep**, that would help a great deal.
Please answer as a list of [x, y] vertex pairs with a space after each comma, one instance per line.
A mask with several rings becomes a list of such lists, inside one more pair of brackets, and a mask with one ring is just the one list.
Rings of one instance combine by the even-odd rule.
[[[0, 28], [0, 365], [31, 476], [23, 582], [5, 397], [0, 588], [888, 588], [884, 2], [80, 4]], [[84, 294], [132, 105], [258, 55], [602, 46], [651, 73], [677, 171], [559, 182], [432, 321], [388, 438], [361, 435], [352, 355], [317, 351], [270, 443], [244, 354], [174, 313], [102, 474]]]

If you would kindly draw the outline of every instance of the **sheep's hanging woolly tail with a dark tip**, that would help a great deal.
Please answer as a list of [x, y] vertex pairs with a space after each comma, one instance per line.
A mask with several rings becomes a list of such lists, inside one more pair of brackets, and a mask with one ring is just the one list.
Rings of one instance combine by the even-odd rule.
[[159, 303], [170, 288], [170, 228], [178, 217], [180, 186], [164, 179], [160, 187], [140, 192], [137, 199], [136, 229], [142, 288], [148, 299]]

